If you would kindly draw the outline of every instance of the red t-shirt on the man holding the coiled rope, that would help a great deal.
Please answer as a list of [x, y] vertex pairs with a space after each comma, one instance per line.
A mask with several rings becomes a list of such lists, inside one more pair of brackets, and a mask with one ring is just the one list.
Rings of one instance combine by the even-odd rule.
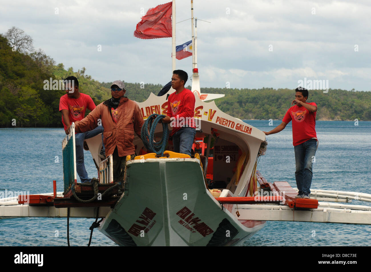
[[[176, 117], [177, 120], [170, 135], [180, 130], [181, 127], [196, 128], [194, 123], [194, 104], [196, 98], [189, 89], [183, 89], [179, 94], [173, 92], [167, 99], [167, 115]], [[172, 123], [170, 123], [171, 125]]]

